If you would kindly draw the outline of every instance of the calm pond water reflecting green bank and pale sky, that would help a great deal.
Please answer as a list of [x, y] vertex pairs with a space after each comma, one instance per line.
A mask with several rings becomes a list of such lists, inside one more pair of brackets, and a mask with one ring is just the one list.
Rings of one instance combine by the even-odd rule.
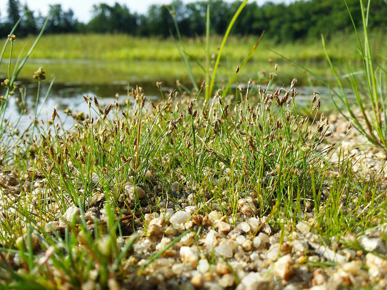
[[[291, 63], [278, 61], [279, 68], [276, 72], [276, 86], [289, 86], [293, 78], [297, 78], [297, 89], [299, 102], [306, 104], [312, 96], [313, 90], [321, 93], [322, 99], [329, 100], [329, 91], [322, 83], [310, 73]], [[327, 80], [334, 81], [334, 76], [325, 63], [304, 63], [315, 75]], [[6, 78], [6, 64], [0, 68], [0, 78]], [[41, 84], [40, 97], [36, 103], [38, 83], [32, 75], [38, 67], [43, 67], [46, 72], [46, 80]], [[236, 65], [233, 63], [222, 63], [219, 67], [219, 81], [227, 80], [235, 73]], [[198, 84], [204, 80], [204, 72], [199, 65], [192, 65], [193, 74]], [[257, 84], [264, 86], [269, 78], [269, 73], [274, 71], [274, 62], [250, 62], [238, 73], [238, 83], [246, 84], [250, 78]], [[51, 90], [45, 102], [45, 95], [51, 80], [55, 78]], [[162, 90], [168, 94], [170, 89], [176, 88], [176, 80], [191, 88], [190, 80], [185, 67], [181, 62], [125, 62], [125, 61], [92, 61], [92, 60], [29, 60], [23, 67], [19, 78], [19, 87], [26, 90], [25, 108], [21, 108], [20, 92], [16, 90], [11, 98], [5, 112], [5, 118], [10, 121], [18, 119], [23, 109], [26, 111], [20, 119], [19, 129], [26, 128], [31, 123], [38, 107], [38, 119], [51, 119], [53, 107], [57, 106], [58, 114], [65, 128], [73, 125], [71, 118], [64, 118], [65, 109], [71, 111], [87, 111], [88, 107], [82, 96], [101, 98], [101, 104], [107, 104], [118, 96], [118, 102], [127, 100], [127, 91], [139, 85], [146, 93], [147, 99], [157, 100], [161, 94], [156, 87], [156, 82], [163, 82]], [[235, 85], [234, 85], [235, 87]], [[2, 92], [4, 93], [4, 92]]]

